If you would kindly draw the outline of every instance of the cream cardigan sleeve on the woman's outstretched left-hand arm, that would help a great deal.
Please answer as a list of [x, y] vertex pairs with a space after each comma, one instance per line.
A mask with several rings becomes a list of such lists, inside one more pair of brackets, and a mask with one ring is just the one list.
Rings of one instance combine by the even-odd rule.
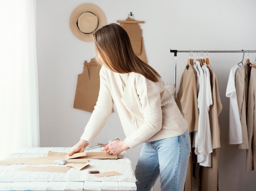
[[88, 121], [81, 139], [92, 142], [106, 124], [112, 113], [113, 100], [108, 88], [103, 67], [100, 70], [99, 96], [94, 111]]

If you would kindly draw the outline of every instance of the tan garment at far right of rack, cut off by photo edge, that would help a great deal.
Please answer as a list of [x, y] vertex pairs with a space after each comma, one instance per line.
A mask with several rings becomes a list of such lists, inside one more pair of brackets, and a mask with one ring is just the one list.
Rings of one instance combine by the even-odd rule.
[[252, 67], [248, 92], [246, 171], [256, 172], [256, 68]]

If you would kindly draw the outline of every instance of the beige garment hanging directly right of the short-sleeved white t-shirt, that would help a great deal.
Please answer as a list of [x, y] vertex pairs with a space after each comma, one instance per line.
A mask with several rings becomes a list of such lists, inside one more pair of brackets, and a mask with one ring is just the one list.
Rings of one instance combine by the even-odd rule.
[[248, 89], [249, 89], [249, 73], [250, 70], [248, 64], [243, 64], [236, 70], [236, 97], [238, 103], [238, 111], [240, 116], [241, 128], [242, 128], [242, 143], [238, 144], [239, 149], [249, 149], [248, 133], [247, 133], [247, 104], [248, 104]]

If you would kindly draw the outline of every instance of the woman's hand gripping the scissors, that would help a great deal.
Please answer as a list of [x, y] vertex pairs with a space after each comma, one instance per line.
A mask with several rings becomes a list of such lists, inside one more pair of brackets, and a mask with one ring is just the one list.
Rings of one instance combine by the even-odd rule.
[[101, 151], [105, 151], [105, 153], [110, 154], [118, 154], [128, 149], [130, 149], [130, 147], [127, 146], [125, 141], [113, 140], [112, 142], [102, 147]]

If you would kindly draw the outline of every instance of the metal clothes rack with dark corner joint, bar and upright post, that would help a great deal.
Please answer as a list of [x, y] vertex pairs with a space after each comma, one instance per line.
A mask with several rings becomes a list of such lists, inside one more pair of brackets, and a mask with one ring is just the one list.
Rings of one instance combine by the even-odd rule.
[[241, 51], [225, 51], [225, 50], [217, 50], [217, 51], [209, 51], [209, 50], [172, 50], [170, 49], [171, 52], [174, 53], [174, 79], [173, 79], [173, 85], [175, 87], [175, 93], [174, 93], [174, 98], [176, 97], [176, 66], [177, 66], [177, 52], [190, 52], [190, 53], [256, 53], [256, 50], [241, 50]]

